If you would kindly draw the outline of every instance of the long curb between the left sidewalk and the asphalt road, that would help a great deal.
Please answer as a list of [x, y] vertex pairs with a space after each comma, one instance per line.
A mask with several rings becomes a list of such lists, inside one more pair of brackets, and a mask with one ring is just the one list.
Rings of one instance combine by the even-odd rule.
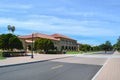
[[26, 62], [26, 63], [3, 65], [3, 66], [0, 66], [0, 68], [11, 67], [11, 66], [19, 66], [19, 65], [26, 65], [26, 64], [33, 64], [33, 63], [39, 63], [39, 62], [46, 62], [46, 61], [50, 61], [50, 60], [63, 59], [63, 58], [69, 58], [69, 57], [72, 57], [72, 56], [61, 57], [61, 58], [53, 58], [53, 59], [47, 59], [47, 60], [41, 60], [41, 61]]

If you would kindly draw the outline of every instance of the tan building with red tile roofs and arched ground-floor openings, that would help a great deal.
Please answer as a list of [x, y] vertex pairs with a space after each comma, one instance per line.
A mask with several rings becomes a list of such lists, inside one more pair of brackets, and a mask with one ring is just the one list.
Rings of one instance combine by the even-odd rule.
[[[19, 36], [20, 40], [23, 43], [23, 47], [25, 50], [29, 49], [31, 50], [32, 47], [32, 34], [25, 35], [25, 36]], [[34, 40], [36, 38], [46, 38], [53, 41], [55, 49], [56, 50], [69, 50], [69, 51], [77, 51], [78, 50], [78, 44], [77, 40], [74, 40], [72, 38], [69, 38], [67, 36], [61, 35], [61, 34], [52, 34], [52, 35], [46, 35], [41, 33], [34, 33], [33, 34]], [[33, 41], [34, 42], [34, 41]]]

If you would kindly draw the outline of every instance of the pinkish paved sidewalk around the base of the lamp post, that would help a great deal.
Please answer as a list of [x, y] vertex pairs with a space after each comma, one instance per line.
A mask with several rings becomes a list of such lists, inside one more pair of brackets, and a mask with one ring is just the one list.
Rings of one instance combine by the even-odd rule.
[[34, 54], [34, 58], [32, 59], [31, 56], [22, 56], [22, 57], [11, 57], [5, 60], [0, 60], [0, 67], [9, 66], [9, 65], [16, 65], [16, 64], [25, 64], [31, 62], [38, 62], [38, 61], [46, 61], [58, 58], [65, 58], [70, 57], [70, 55], [66, 54]]

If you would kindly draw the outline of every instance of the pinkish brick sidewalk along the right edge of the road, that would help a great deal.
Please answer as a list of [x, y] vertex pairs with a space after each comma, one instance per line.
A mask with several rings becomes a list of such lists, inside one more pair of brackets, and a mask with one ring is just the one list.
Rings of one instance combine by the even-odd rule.
[[[115, 52], [112, 56], [120, 55]], [[120, 58], [110, 57], [92, 80], [120, 80]]]

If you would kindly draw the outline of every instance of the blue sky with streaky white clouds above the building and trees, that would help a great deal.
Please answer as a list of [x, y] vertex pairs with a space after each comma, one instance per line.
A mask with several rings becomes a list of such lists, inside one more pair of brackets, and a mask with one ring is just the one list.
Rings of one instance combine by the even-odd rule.
[[114, 44], [120, 36], [120, 0], [0, 0], [0, 34], [60, 33], [79, 43]]

